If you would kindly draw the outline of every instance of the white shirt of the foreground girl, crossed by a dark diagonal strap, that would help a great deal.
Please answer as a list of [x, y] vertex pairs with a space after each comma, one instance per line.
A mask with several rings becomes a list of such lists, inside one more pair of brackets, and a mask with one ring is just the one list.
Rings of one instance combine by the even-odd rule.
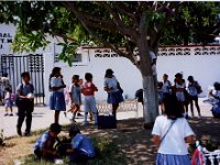
[[[161, 139], [167, 132], [172, 123], [170, 119], [166, 116], [160, 116], [156, 118], [154, 128], [152, 131], [153, 135], [158, 135]], [[187, 155], [187, 145], [185, 143], [185, 138], [194, 135], [191, 128], [189, 127], [185, 118], [178, 118], [172, 125], [170, 130], [160, 144], [158, 153], [161, 154], [172, 154], [172, 155]]]

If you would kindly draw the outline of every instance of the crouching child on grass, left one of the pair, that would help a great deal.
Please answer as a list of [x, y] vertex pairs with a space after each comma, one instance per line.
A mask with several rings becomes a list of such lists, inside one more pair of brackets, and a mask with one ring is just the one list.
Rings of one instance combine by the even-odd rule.
[[54, 161], [58, 157], [58, 152], [53, 147], [58, 140], [62, 127], [58, 123], [52, 123], [50, 131], [45, 131], [36, 141], [34, 146], [34, 154], [37, 158], [44, 158], [47, 161]]

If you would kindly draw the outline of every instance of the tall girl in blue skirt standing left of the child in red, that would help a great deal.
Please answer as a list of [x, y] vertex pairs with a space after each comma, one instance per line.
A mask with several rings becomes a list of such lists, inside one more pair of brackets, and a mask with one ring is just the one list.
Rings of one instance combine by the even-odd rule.
[[58, 123], [59, 112], [66, 111], [66, 103], [64, 97], [64, 88], [66, 85], [63, 81], [59, 67], [54, 67], [50, 76], [50, 90], [52, 91], [50, 99], [50, 108], [54, 110], [54, 122]]

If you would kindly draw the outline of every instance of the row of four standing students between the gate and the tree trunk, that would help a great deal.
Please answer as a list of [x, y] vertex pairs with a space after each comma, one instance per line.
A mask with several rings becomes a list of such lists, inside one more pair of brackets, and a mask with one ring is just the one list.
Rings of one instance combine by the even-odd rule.
[[[95, 92], [98, 91], [98, 88], [92, 82], [92, 75], [90, 73], [85, 74], [85, 84], [79, 84], [79, 76], [74, 75], [72, 78], [72, 85], [69, 86], [67, 92], [70, 98], [70, 112], [73, 112], [73, 121], [75, 121], [77, 112], [80, 110], [81, 105], [81, 94], [85, 96], [85, 117], [84, 123], [88, 123], [88, 113], [95, 118], [95, 124], [97, 124], [97, 107]], [[58, 123], [59, 112], [66, 111], [66, 101], [64, 90], [66, 85], [64, 84], [63, 76], [59, 67], [54, 67], [50, 77], [50, 90], [52, 91], [50, 99], [50, 108], [55, 111], [54, 122]], [[112, 105], [112, 114], [117, 116], [117, 109], [119, 103], [123, 101], [122, 92], [123, 90], [120, 87], [120, 84], [116, 76], [113, 75], [112, 69], [106, 70], [105, 76], [105, 88], [108, 92], [107, 101]], [[68, 112], [67, 111], [67, 112]], [[65, 112], [66, 114], [66, 112]]]

